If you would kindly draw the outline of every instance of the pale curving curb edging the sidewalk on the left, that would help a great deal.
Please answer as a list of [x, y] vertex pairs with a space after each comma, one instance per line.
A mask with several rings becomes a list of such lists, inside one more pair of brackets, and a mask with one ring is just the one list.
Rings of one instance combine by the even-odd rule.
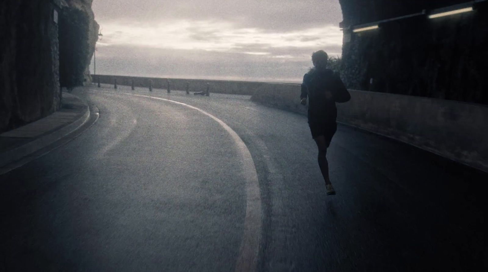
[[[76, 96], [75, 96], [76, 97]], [[61, 138], [70, 135], [71, 133], [77, 131], [83, 124], [85, 124], [90, 119], [90, 107], [80, 97], [80, 99], [84, 104], [85, 112], [81, 117], [76, 119], [74, 122], [62, 127], [59, 130], [56, 130], [48, 135], [41, 136], [33, 141], [30, 141], [24, 145], [16, 147], [14, 149], [8, 150], [0, 155], [0, 168], [5, 167], [11, 163], [14, 163], [23, 157], [31, 155], [42, 148], [60, 140]]]

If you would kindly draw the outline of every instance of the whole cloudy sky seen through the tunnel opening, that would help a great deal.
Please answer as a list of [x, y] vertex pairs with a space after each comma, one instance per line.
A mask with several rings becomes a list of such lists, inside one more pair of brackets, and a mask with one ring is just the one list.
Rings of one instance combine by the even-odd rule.
[[300, 81], [313, 51], [341, 55], [338, 0], [94, 0], [93, 10], [97, 74]]

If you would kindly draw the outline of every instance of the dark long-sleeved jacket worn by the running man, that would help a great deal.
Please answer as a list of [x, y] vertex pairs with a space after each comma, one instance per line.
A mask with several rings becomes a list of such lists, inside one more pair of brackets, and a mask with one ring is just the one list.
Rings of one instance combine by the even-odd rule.
[[[332, 95], [327, 98], [325, 93]], [[311, 69], [304, 76], [300, 98], [308, 96], [308, 122], [333, 123], [337, 118], [335, 103], [351, 99], [344, 83], [332, 70]]]

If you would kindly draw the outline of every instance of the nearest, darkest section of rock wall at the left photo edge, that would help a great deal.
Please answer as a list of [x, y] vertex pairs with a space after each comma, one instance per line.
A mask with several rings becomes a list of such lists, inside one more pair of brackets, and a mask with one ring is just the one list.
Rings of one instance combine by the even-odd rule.
[[0, 1], [0, 132], [60, 107], [54, 10], [52, 1]]

